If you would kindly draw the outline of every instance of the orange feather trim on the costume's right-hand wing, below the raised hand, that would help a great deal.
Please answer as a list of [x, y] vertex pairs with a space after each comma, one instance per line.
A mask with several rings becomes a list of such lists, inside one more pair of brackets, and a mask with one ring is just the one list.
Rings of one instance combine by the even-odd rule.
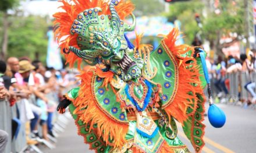
[[[176, 97], [173, 102], [165, 108], [168, 116], [173, 116], [177, 121], [182, 123], [184, 126], [184, 122], [189, 119], [189, 116], [193, 118], [195, 111], [197, 109], [198, 101], [200, 101], [197, 97], [197, 94], [201, 94], [204, 96], [204, 92], [201, 86], [200, 81], [200, 73], [199, 66], [197, 65], [197, 61], [194, 57], [187, 56], [182, 57], [181, 54], [192, 50], [192, 55], [194, 54], [194, 48], [187, 45], [179, 45], [176, 46], [175, 42], [177, 40], [177, 36], [179, 35], [179, 31], [177, 28], [173, 28], [173, 30], [167, 35], [167, 38], [163, 39], [163, 42], [166, 46], [168, 46], [170, 52], [175, 56], [176, 62], [180, 63], [179, 65], [179, 80], [177, 86]], [[197, 86], [195, 86], [195, 84]], [[205, 98], [204, 98], [205, 99]], [[205, 102], [205, 101], [204, 101]], [[204, 102], [201, 104], [204, 107]], [[192, 111], [188, 114], [187, 109], [191, 108]], [[204, 108], [201, 112], [202, 119], [201, 122], [204, 121]], [[194, 120], [193, 120], [194, 121]], [[204, 125], [202, 124], [202, 131], [204, 132]], [[191, 128], [193, 130], [193, 127]], [[204, 136], [204, 133], [202, 133]], [[201, 136], [201, 137], [202, 137]], [[193, 137], [191, 138], [193, 139]], [[193, 147], [195, 148], [195, 144], [191, 141]], [[204, 144], [201, 146], [201, 148]], [[200, 148], [200, 150], [201, 150]]]

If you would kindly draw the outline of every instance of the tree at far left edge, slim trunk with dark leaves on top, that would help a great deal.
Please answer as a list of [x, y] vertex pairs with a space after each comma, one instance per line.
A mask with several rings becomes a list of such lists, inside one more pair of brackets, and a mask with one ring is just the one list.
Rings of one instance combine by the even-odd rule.
[[5, 59], [7, 49], [8, 49], [8, 9], [12, 9], [15, 5], [17, 5], [17, 0], [1, 0], [0, 2], [0, 12], [2, 12], [2, 31], [3, 38], [1, 43], [1, 54], [0, 59]]

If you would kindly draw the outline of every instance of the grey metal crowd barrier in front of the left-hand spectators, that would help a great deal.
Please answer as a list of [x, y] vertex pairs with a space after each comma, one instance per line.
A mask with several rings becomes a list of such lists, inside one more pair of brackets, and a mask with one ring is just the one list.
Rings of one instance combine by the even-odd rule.
[[[48, 99], [54, 100], [56, 105], [58, 105], [58, 96], [56, 93], [51, 92], [47, 94]], [[29, 99], [30, 103], [36, 104], [35, 96], [32, 95]], [[18, 118], [17, 116], [17, 108], [20, 108], [19, 101], [16, 102], [15, 105], [12, 107], [9, 106], [9, 101], [7, 100], [0, 100], [0, 129], [4, 130], [8, 133], [8, 144], [6, 145], [5, 151], [3, 153], [10, 153], [10, 152], [24, 152], [28, 148], [31, 148], [33, 152], [41, 153], [40, 147], [38, 148], [35, 145], [27, 145], [26, 140], [26, 124], [21, 123], [19, 133], [17, 137], [12, 139], [12, 119]], [[53, 130], [56, 136], [58, 136], [59, 132], [64, 132], [64, 129], [67, 125], [67, 122], [70, 119], [70, 115], [63, 114], [59, 115], [56, 111], [54, 112], [54, 119], [52, 121]], [[38, 125], [38, 132], [40, 131], [40, 127]], [[44, 144], [49, 149], [55, 148], [54, 143], [56, 143], [56, 139], [53, 137], [49, 137], [50, 142], [48, 141], [41, 141], [40, 144]]]

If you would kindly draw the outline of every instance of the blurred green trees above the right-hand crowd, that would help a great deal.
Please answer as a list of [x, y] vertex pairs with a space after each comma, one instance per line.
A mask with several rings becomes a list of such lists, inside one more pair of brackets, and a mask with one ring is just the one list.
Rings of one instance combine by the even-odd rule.
[[[223, 46], [219, 44], [222, 35], [236, 32], [244, 35], [244, 7], [243, 1], [238, 0], [233, 3], [231, 0], [220, 1], [218, 8], [208, 8], [209, 1], [195, 0], [189, 2], [176, 2], [170, 5], [170, 13], [166, 16], [172, 19], [179, 19], [182, 22], [182, 31], [186, 35], [185, 41], [192, 42], [195, 34], [202, 32], [202, 38], [210, 42], [210, 46], [215, 52], [221, 54]], [[219, 13], [214, 12], [214, 10]], [[202, 15], [204, 12], [204, 16]], [[202, 28], [199, 28], [195, 20], [195, 13], [200, 15]]]

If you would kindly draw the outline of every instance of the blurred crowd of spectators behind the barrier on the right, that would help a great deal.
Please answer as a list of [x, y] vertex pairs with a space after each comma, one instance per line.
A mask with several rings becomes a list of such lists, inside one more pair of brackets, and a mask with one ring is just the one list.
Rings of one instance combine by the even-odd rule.
[[[255, 94], [255, 73], [256, 73], [256, 50], [251, 50], [247, 54], [240, 54], [239, 57], [218, 56], [218, 59], [207, 59], [207, 67], [209, 71], [209, 78], [216, 95], [216, 101], [226, 103], [229, 101], [230, 89], [237, 88], [239, 101], [245, 106], [256, 103]], [[238, 74], [238, 86], [230, 86], [230, 74]], [[243, 74], [243, 76], [242, 76]], [[243, 83], [246, 80], [245, 83]], [[241, 90], [247, 90], [248, 97], [243, 99], [241, 97]]]

